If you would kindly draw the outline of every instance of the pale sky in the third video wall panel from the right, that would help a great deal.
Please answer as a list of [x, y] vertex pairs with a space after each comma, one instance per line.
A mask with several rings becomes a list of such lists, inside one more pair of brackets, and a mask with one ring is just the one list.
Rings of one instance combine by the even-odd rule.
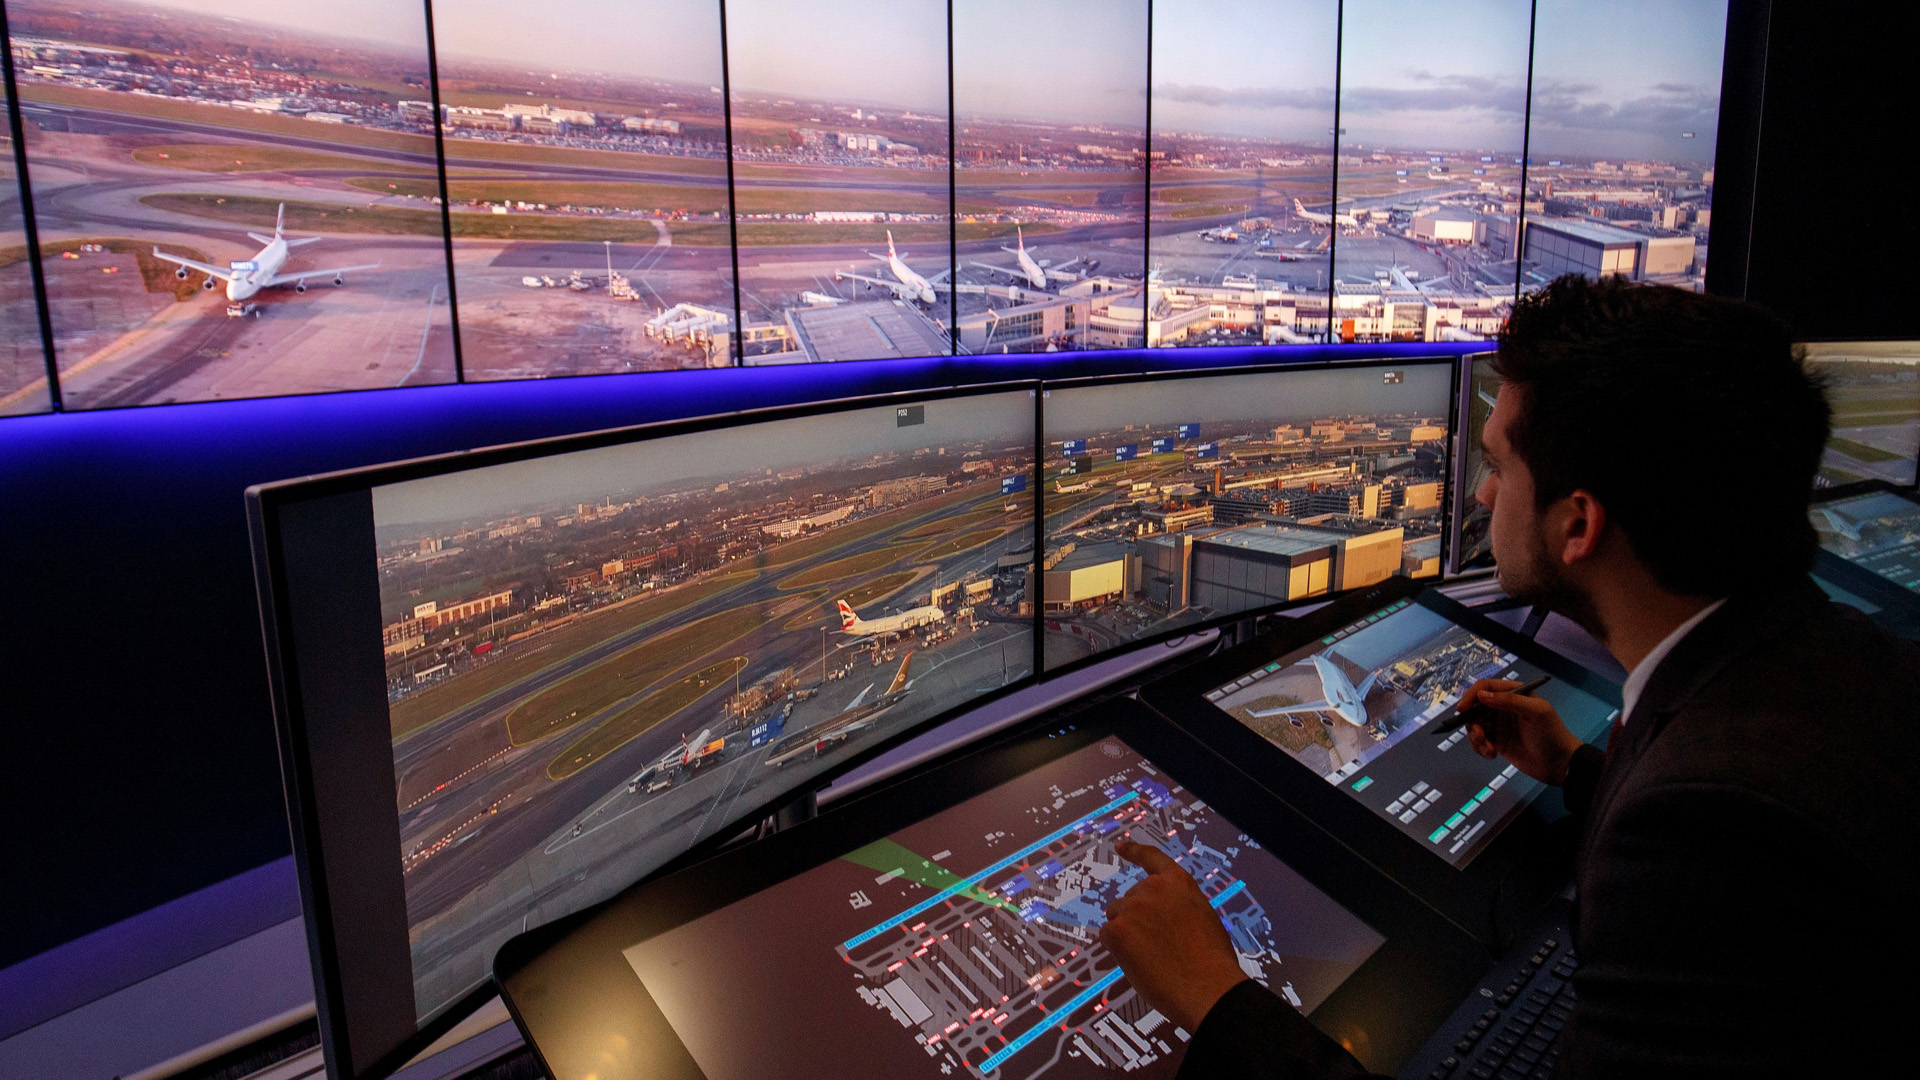
[[1338, 0], [1156, 0], [1154, 131], [1331, 142]]

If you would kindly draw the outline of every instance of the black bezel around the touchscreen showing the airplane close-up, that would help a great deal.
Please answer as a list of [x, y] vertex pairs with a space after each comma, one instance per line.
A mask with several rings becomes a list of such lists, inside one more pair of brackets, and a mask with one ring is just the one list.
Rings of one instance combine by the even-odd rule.
[[1515, 817], [1471, 863], [1453, 867], [1421, 849], [1342, 788], [1308, 771], [1286, 751], [1206, 700], [1206, 694], [1215, 686], [1313, 646], [1319, 638], [1396, 600], [1413, 600], [1457, 626], [1517, 653], [1553, 678], [1620, 707], [1617, 684], [1532, 638], [1448, 600], [1440, 590], [1407, 578], [1390, 578], [1300, 619], [1277, 623], [1269, 632], [1246, 644], [1148, 684], [1140, 690], [1140, 700], [1210, 746], [1221, 761], [1244, 773], [1277, 799], [1340, 836], [1363, 859], [1380, 867], [1382, 872], [1436, 907], [1465, 932], [1498, 947], [1524, 924], [1532, 911], [1567, 884], [1574, 836], [1565, 828], [1571, 822], [1557, 788], [1536, 796], [1526, 811]]

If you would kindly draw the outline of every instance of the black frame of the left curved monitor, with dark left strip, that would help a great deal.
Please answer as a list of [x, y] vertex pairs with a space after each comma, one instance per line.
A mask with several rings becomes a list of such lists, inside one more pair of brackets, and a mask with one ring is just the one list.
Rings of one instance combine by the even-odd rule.
[[[340, 771], [334, 765], [315, 761], [315, 732], [340, 730], [342, 726], [351, 728], [355, 717], [359, 717], [359, 713], [342, 711], [342, 694], [351, 696], [357, 692], [359, 698], [369, 694], [369, 688], [357, 686], [359, 680], [351, 675], [346, 678], [349, 686], [326, 686], [326, 682], [338, 680], [319, 680], [315, 675], [342, 673], [351, 669], [353, 663], [365, 663], [367, 655], [363, 653], [369, 648], [367, 642], [372, 642], [372, 657], [378, 661], [378, 577], [372, 561], [374, 550], [371, 548], [372, 488], [401, 480], [505, 465], [532, 457], [651, 442], [678, 434], [695, 434], [751, 423], [806, 419], [858, 409], [883, 409], [906, 404], [1014, 392], [1027, 392], [1033, 402], [1035, 465], [1029, 473], [1029, 494], [1033, 502], [1031, 527], [1035, 530], [1035, 538], [1039, 538], [1043, 519], [1037, 480], [1044, 430], [1041, 429], [1041, 382], [1033, 379], [714, 413], [707, 417], [528, 440], [484, 450], [463, 450], [248, 488], [248, 527], [253, 544], [253, 573], [267, 648], [267, 676], [275, 713], [275, 736], [280, 748], [280, 773], [288, 822], [292, 828], [294, 863], [300, 876], [301, 903], [307, 911], [307, 947], [313, 963], [315, 1007], [319, 1013], [328, 1074], [342, 1080], [384, 1076], [405, 1065], [417, 1051], [424, 1049], [436, 1038], [451, 1030], [461, 1019], [484, 1005], [486, 999], [495, 994], [495, 988], [490, 982], [482, 982], [467, 995], [442, 1007], [442, 1011], [424, 1024], [417, 1022], [413, 1005], [413, 957], [411, 947], [407, 945], [405, 907], [401, 905], [399, 909], [397, 928], [392, 926], [392, 896], [384, 896], [388, 886], [392, 892], [399, 894], [403, 880], [399, 872], [397, 819], [390, 822], [392, 834], [384, 828], [378, 830], [378, 834], [336, 828], [336, 822], [342, 819], [351, 821], [355, 815], [353, 807], [365, 805], [369, 799], [371, 805], [378, 807], [394, 805], [396, 780], [392, 774], [392, 746], [388, 744], [384, 748], [382, 761], [378, 763], [361, 761], [361, 757], [371, 757], [365, 748], [351, 753], [351, 767], [357, 780], [348, 778], [346, 771]], [[334, 536], [332, 540], [323, 540], [323, 544], [328, 546], [328, 552], [324, 553], [332, 555], [336, 571], [351, 573], [353, 567], [349, 563], [357, 553], [365, 571], [365, 580], [361, 580], [357, 588], [338, 588], [340, 582], [330, 582], [332, 588], [323, 588], [317, 582], [303, 588], [298, 580], [300, 567], [288, 565], [288, 546], [300, 546], [311, 540], [311, 536], [301, 534], [301, 525], [292, 523], [292, 528], [288, 528], [288, 519], [300, 517], [301, 509], [323, 505], [330, 507], [328, 511], [336, 519], [342, 517], [342, 509], [346, 509], [346, 517], [351, 517], [351, 521], [344, 523], [346, 532], [351, 532], [351, 536]], [[330, 525], [336, 532], [342, 528], [340, 521]], [[305, 528], [305, 532], [313, 534], [319, 530]], [[365, 552], [359, 552], [361, 542], [369, 544]], [[361, 642], [359, 636], [340, 634], [338, 626], [328, 628], [328, 623], [338, 623], [340, 615], [323, 613], [317, 605], [351, 601], [365, 605], [369, 600], [367, 590], [372, 590], [371, 601], [374, 603], [374, 625], [371, 628], [371, 636], [361, 634], [367, 642]], [[363, 623], [363, 619], [348, 619], [355, 626]], [[966, 709], [979, 707], [987, 701], [1031, 686], [1043, 676], [1039, 661], [1041, 628], [1035, 619], [1033, 671], [1027, 676], [1012, 680], [987, 694], [968, 698], [966, 701], [943, 709], [924, 721], [889, 732], [885, 738], [876, 740], [839, 761], [829, 773], [812, 776], [808, 784], [785, 790], [772, 799], [760, 799], [735, 813], [728, 826], [718, 828], [705, 842], [693, 846], [691, 851], [697, 853], [701, 849], [718, 847], [730, 840], [732, 832], [737, 832], [739, 824], [764, 817], [770, 809], [803, 796], [804, 790], [826, 784], [831, 774], [854, 769]], [[384, 701], [384, 678], [380, 682], [382, 686], [378, 688], [378, 694]], [[361, 701], [361, 707], [367, 707], [367, 701]], [[328, 753], [324, 753], [324, 744], [321, 744], [319, 757], [334, 761]], [[384, 794], [378, 790], [382, 786], [382, 774]], [[682, 859], [684, 857], [685, 853]], [[382, 865], [392, 867], [392, 882], [384, 882], [384, 874], [378, 869]], [[342, 897], [351, 899], [342, 903]], [[382, 901], [388, 909], [367, 909], [369, 905], [378, 907]], [[399, 945], [397, 951], [394, 949], [396, 942]], [[344, 988], [346, 984], [351, 984], [355, 992], [348, 994]], [[396, 1003], [401, 999], [401, 988], [405, 990], [403, 1001], [407, 1005], [403, 1024], [392, 1017]], [[369, 995], [372, 997], [371, 1001], [367, 999]], [[399, 1028], [405, 1028], [407, 1034], [401, 1034]], [[355, 1032], [359, 1032], [359, 1038], [355, 1038]]]

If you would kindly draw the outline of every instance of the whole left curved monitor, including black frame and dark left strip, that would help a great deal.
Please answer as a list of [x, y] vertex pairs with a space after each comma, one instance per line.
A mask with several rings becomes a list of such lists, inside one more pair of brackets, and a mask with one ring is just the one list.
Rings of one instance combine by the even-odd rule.
[[511, 936], [1031, 678], [1035, 423], [1000, 384], [253, 490], [340, 1074]]

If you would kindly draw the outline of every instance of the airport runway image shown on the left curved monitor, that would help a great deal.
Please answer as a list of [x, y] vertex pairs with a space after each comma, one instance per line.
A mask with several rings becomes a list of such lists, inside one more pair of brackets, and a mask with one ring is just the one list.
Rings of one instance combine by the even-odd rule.
[[374, 488], [430, 1015], [889, 732], [1033, 671], [1029, 392]]

